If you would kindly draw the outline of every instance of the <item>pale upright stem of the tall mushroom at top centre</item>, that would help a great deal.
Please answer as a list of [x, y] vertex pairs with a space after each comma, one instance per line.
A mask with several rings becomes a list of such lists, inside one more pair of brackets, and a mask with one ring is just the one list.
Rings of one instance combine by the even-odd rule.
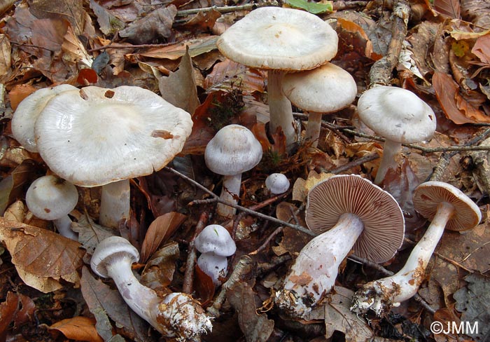
[[269, 100], [269, 130], [272, 134], [278, 127], [286, 137], [286, 147], [290, 149], [296, 142], [296, 131], [293, 118], [293, 107], [284, 95], [281, 83], [284, 71], [269, 69], [267, 71], [267, 96]]

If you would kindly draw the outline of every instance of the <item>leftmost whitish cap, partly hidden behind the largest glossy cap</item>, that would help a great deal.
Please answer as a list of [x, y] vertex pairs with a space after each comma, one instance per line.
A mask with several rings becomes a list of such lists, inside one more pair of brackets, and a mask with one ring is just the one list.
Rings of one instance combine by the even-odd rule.
[[26, 97], [20, 104], [11, 121], [12, 134], [15, 140], [29, 152], [37, 152], [36, 139], [34, 137], [34, 124], [52, 97], [66, 90], [76, 90], [76, 87], [69, 84], [62, 84], [51, 88], [42, 88]]

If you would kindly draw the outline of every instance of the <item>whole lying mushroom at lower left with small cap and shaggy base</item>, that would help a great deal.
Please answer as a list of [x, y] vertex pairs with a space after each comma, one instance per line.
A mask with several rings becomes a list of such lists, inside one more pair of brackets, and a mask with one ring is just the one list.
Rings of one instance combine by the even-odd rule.
[[129, 241], [111, 236], [97, 245], [90, 266], [100, 277], [112, 278], [127, 305], [163, 336], [195, 341], [211, 331], [211, 320], [190, 295], [176, 292], [160, 297], [141, 285], [131, 269], [138, 260], [138, 250]]

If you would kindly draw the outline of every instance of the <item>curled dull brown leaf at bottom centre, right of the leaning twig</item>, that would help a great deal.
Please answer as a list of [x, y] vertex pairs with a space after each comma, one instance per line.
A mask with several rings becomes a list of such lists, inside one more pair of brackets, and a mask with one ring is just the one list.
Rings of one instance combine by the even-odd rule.
[[238, 313], [238, 324], [247, 342], [265, 342], [274, 330], [274, 321], [265, 313], [257, 314], [252, 288], [246, 282], [238, 282], [228, 289], [226, 296]]

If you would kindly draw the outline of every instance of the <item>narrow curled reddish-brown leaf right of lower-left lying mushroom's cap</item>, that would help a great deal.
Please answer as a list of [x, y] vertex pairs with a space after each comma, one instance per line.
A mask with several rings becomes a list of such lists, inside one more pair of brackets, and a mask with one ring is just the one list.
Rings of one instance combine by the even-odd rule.
[[141, 262], [146, 262], [149, 257], [158, 249], [160, 244], [172, 235], [187, 218], [179, 212], [168, 212], [157, 217], [146, 231], [143, 245], [141, 246]]

